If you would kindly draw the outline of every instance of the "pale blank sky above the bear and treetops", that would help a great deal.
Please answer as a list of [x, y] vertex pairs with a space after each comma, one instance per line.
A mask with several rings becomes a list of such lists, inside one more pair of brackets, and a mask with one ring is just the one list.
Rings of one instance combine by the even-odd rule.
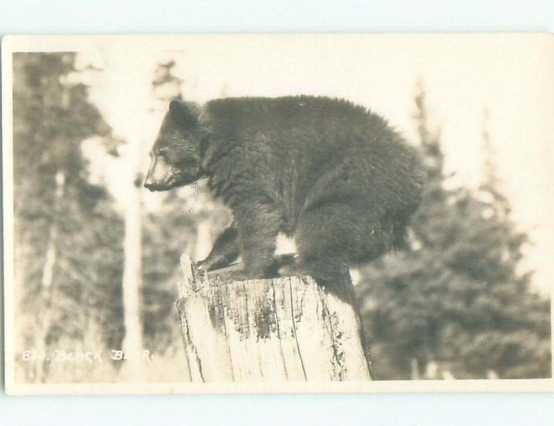
[[[463, 186], [476, 186], [481, 179], [486, 107], [501, 189], [521, 230], [535, 242], [526, 266], [536, 270], [537, 286], [552, 285], [552, 36], [134, 36], [66, 44], [86, 51], [80, 56], [83, 64], [104, 69], [87, 79], [91, 96], [116, 134], [134, 147], [136, 156], [124, 158], [138, 168], [148, 166], [147, 152], [166, 107], [158, 104], [148, 111], [155, 66], [168, 58], [177, 60], [187, 100], [289, 94], [346, 98], [382, 114], [411, 141], [413, 95], [421, 78], [432, 124], [442, 130], [447, 172], [455, 172], [454, 181]], [[105, 159], [98, 150], [90, 149], [89, 155], [91, 168], [102, 174]], [[109, 170], [107, 180], [120, 199], [125, 197], [123, 163], [103, 171]], [[152, 200], [146, 197], [147, 203]]]

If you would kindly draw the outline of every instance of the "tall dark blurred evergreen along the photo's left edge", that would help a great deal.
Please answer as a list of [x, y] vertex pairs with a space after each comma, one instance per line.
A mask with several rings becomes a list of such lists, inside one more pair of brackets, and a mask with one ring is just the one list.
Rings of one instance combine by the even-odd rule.
[[53, 365], [46, 352], [64, 339], [84, 348], [116, 336], [121, 222], [105, 188], [89, 182], [81, 144], [110, 129], [87, 86], [70, 78], [75, 54], [13, 60], [16, 357], [27, 380], [43, 382]]

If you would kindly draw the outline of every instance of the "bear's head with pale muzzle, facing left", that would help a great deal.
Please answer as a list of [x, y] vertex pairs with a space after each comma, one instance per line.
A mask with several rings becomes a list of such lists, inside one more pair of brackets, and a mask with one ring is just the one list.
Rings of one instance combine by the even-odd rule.
[[191, 184], [204, 177], [202, 129], [196, 104], [172, 100], [150, 151], [150, 168], [144, 181], [151, 191]]

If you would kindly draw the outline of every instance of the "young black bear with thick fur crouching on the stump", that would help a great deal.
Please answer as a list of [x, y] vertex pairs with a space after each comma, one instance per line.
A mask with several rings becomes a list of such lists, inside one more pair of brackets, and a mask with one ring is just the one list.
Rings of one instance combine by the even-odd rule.
[[271, 276], [283, 232], [298, 251], [285, 272], [322, 285], [402, 246], [424, 176], [418, 152], [384, 118], [312, 96], [173, 100], [150, 155], [146, 188], [208, 177], [233, 212], [202, 267], [242, 256], [235, 278]]

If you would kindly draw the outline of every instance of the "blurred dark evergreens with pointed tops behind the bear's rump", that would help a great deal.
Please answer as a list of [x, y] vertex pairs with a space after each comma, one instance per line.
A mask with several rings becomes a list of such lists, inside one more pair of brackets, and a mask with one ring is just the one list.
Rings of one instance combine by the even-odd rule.
[[447, 189], [422, 89], [415, 105], [428, 181], [411, 247], [368, 265], [358, 286], [377, 378], [550, 377], [549, 303], [520, 271], [528, 238], [492, 158], [479, 190]]

